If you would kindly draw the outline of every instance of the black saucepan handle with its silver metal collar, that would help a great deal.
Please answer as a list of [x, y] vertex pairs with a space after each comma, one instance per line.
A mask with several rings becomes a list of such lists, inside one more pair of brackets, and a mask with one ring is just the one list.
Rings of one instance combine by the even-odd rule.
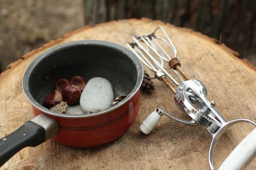
[[58, 132], [58, 122], [43, 113], [27, 121], [19, 129], [0, 139], [0, 167], [21, 149], [35, 147]]

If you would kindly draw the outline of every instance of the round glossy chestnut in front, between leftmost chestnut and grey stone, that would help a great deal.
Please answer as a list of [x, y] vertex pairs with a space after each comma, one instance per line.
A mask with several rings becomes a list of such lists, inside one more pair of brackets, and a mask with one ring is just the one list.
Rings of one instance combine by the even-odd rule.
[[78, 103], [81, 96], [81, 91], [75, 85], [67, 85], [62, 90], [62, 97], [65, 102], [68, 104]]

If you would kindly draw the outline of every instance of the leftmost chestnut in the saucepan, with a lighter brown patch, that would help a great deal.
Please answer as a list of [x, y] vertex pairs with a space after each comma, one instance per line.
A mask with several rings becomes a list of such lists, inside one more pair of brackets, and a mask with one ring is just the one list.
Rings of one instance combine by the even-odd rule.
[[47, 108], [51, 108], [56, 104], [63, 101], [63, 97], [58, 90], [53, 90], [44, 100], [44, 104]]

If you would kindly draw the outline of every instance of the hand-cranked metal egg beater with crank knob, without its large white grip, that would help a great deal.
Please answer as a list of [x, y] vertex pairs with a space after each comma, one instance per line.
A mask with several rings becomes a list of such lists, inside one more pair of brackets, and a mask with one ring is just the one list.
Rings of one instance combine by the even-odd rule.
[[[159, 32], [164, 38], [157, 36]], [[181, 63], [177, 56], [176, 48], [162, 27], [156, 28], [155, 31], [148, 35], [132, 36], [132, 39], [133, 42], [127, 43], [130, 50], [139, 57], [144, 65], [155, 72], [156, 78], [165, 82], [168, 88], [175, 94], [174, 100], [176, 106], [192, 118], [190, 121], [176, 118], [166, 113], [161, 108], [157, 108], [140, 125], [140, 130], [144, 134], [149, 134], [158, 124], [162, 115], [183, 124], [201, 125], [203, 128], [207, 129], [212, 136], [208, 161], [210, 168], [214, 170], [213, 151], [221, 135], [231, 126], [240, 122], [249, 122], [255, 126], [256, 124], [249, 119], [242, 118], [228, 121], [224, 115], [215, 108], [215, 104], [207, 98], [207, 90], [203, 82], [190, 79], [181, 69]], [[176, 78], [167, 70], [173, 71]], [[169, 82], [167, 77], [173, 83]], [[172, 84], [175, 84], [177, 87], [174, 88]], [[248, 165], [248, 161], [251, 160], [244, 159], [244, 162], [240, 163]]]

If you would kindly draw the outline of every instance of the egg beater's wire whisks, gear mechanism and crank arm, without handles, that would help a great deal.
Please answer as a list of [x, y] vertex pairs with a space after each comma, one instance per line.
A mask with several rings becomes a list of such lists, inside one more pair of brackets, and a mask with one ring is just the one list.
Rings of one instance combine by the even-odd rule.
[[[156, 33], [158, 31], [165, 38], [157, 36]], [[227, 119], [213, 107], [213, 102], [206, 98], [206, 88], [203, 83], [199, 80], [190, 80], [181, 69], [177, 50], [162, 27], [158, 27], [148, 35], [132, 36], [132, 38], [133, 42], [127, 43], [128, 47], [149, 69], [155, 72], [156, 78], [165, 82], [168, 88], [175, 94], [175, 103], [178, 108], [192, 117], [192, 120], [187, 121], [173, 117], [160, 108], [157, 108], [158, 113], [161, 115], [165, 114], [169, 118], [184, 124], [200, 124], [207, 130], [210, 130], [211, 133], [217, 130], [220, 124], [227, 122]], [[167, 69], [171, 69], [176, 74], [178, 80], [171, 76]], [[177, 88], [172, 86], [167, 77], [171, 79]], [[197, 113], [194, 113], [194, 110]]]

